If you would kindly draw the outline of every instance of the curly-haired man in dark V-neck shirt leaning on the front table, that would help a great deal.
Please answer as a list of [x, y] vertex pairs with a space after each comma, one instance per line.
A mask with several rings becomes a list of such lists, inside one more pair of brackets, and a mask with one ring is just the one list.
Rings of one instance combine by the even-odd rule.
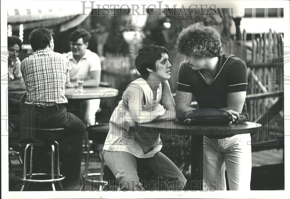
[[[238, 120], [246, 112], [247, 67], [235, 55], [222, 54], [221, 36], [212, 27], [197, 23], [180, 33], [177, 51], [184, 62], [178, 72], [177, 94], [184, 101], [177, 102], [179, 115], [193, 110], [192, 99], [199, 108], [228, 111]], [[204, 136], [204, 170], [206, 182], [215, 182], [217, 190], [226, 190], [225, 166], [230, 190], [250, 190], [251, 181], [250, 134]], [[211, 182], [212, 183], [212, 182]], [[205, 190], [211, 189], [208, 184]]]

